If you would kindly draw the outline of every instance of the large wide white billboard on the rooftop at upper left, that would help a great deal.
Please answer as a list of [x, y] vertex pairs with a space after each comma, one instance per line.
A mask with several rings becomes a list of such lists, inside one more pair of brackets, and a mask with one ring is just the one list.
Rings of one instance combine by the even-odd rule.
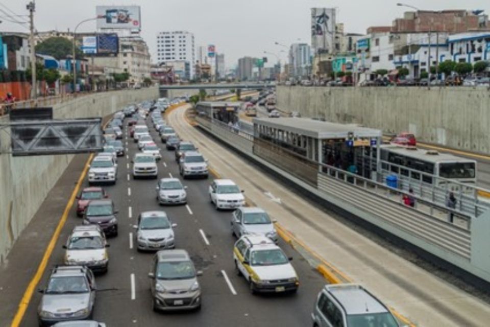
[[141, 30], [139, 6], [96, 6], [97, 29]]

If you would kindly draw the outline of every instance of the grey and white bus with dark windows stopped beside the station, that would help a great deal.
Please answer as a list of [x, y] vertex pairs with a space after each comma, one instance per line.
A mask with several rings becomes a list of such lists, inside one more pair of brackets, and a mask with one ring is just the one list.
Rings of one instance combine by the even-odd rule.
[[[454, 180], [474, 187], [477, 180], [475, 160], [397, 145], [381, 146], [381, 170], [400, 177], [421, 179], [428, 184], [434, 183], [435, 178], [437, 186], [445, 186], [448, 180]], [[459, 191], [458, 184], [451, 184], [450, 190]]]

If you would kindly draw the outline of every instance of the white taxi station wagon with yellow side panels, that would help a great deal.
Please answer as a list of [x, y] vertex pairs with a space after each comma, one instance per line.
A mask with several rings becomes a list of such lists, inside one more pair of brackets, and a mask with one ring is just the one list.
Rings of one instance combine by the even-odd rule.
[[238, 275], [249, 283], [252, 294], [296, 293], [300, 285], [295, 268], [283, 250], [271, 239], [259, 235], [242, 236], [233, 249]]

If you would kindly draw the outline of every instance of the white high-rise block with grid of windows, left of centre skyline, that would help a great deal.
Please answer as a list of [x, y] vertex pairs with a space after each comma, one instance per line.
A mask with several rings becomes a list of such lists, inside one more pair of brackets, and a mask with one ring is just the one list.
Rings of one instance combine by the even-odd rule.
[[184, 60], [189, 63], [190, 78], [194, 77], [194, 34], [186, 31], [159, 32], [157, 62]]

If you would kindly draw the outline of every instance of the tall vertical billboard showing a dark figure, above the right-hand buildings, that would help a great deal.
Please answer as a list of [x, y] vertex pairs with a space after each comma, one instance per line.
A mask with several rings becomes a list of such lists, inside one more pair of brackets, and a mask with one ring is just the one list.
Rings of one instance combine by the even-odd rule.
[[335, 8], [311, 8], [311, 46], [314, 54], [333, 53]]

